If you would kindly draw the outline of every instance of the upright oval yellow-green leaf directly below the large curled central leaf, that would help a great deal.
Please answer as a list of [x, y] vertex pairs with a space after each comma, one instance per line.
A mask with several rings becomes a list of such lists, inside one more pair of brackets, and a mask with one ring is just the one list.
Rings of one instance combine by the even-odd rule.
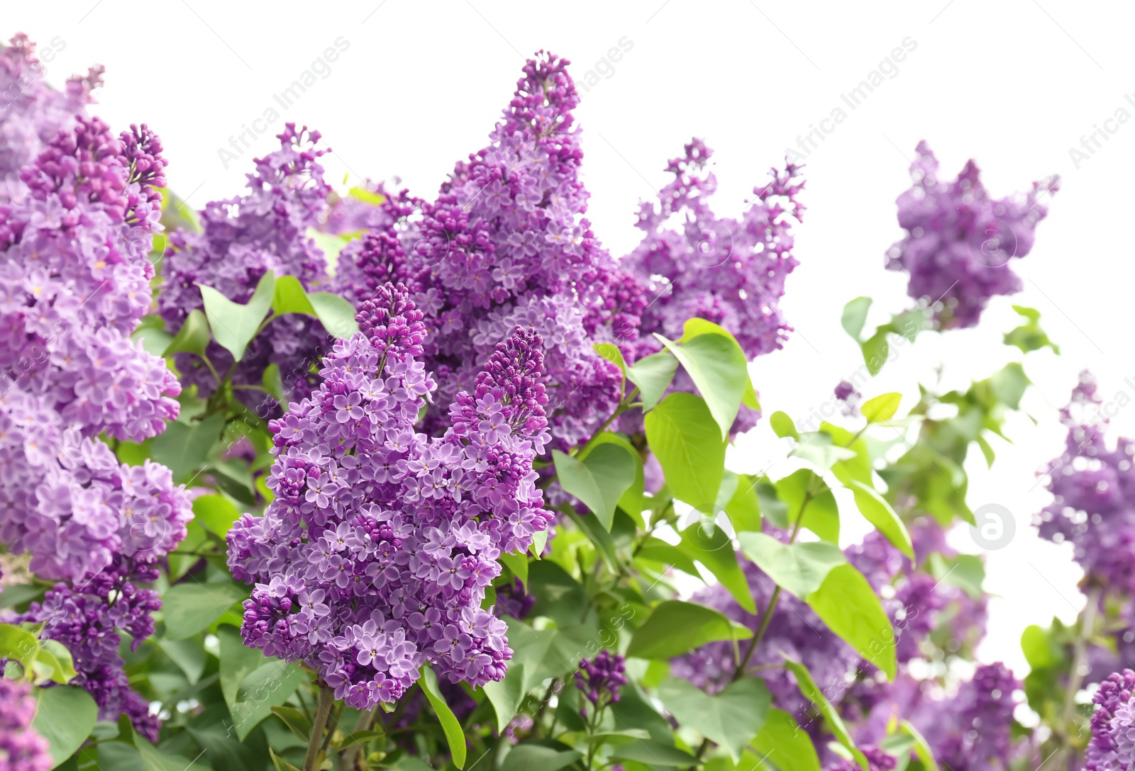
[[699, 511], [712, 511], [725, 472], [725, 444], [705, 401], [671, 393], [646, 415], [646, 438], [666, 485]]

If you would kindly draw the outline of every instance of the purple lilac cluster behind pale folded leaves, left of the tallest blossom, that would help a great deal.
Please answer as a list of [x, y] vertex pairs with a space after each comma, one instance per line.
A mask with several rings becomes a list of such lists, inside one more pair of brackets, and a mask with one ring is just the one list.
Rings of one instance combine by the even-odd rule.
[[[327, 279], [323, 253], [308, 228], [317, 227], [327, 210], [330, 187], [319, 158], [328, 151], [317, 149], [319, 132], [296, 129], [295, 124], [286, 124], [277, 138], [280, 149], [255, 159], [255, 172], [246, 175], [245, 195], [208, 203], [199, 214], [201, 232], [179, 229], [170, 235], [158, 295], [158, 311], [169, 332], [176, 333], [190, 312], [202, 307], [199, 283], [243, 304], [268, 271], [294, 276], [309, 290]], [[264, 368], [276, 364], [285, 391], [302, 398], [311, 391], [312, 364], [327, 340], [317, 320], [283, 315], [252, 340], [233, 372], [233, 383], [259, 386]], [[220, 373], [233, 364], [232, 354], [216, 342], [205, 355]], [[179, 354], [177, 367], [201, 396], [217, 388], [196, 356]], [[242, 391], [244, 398], [255, 398], [254, 392]]]

